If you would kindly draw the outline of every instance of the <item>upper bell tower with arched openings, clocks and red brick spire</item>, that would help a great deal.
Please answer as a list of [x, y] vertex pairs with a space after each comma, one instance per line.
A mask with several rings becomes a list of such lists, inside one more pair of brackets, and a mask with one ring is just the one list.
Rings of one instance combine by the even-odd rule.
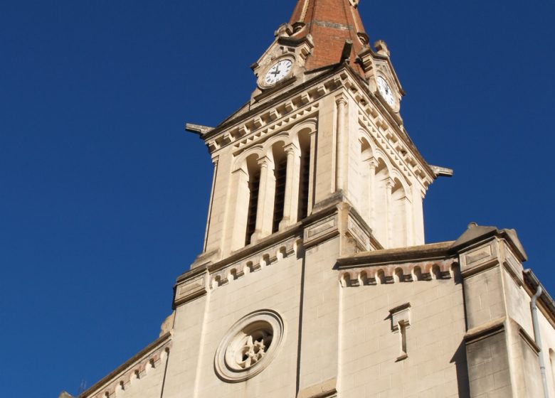
[[187, 124], [214, 163], [196, 265], [260, 244], [330, 201], [349, 208], [349, 250], [424, 243], [425, 191], [450, 171], [429, 166], [409, 138], [390, 52], [384, 41], [369, 45], [358, 3], [297, 1], [251, 66], [250, 101], [216, 128]]

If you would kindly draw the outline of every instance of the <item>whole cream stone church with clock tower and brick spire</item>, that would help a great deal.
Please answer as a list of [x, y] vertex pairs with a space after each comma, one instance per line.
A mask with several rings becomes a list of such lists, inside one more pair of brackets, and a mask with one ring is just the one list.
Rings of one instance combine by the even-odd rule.
[[159, 338], [80, 398], [555, 397], [555, 303], [516, 232], [425, 242], [453, 171], [413, 144], [358, 7], [298, 0], [248, 102], [186, 124], [213, 162], [202, 252]]

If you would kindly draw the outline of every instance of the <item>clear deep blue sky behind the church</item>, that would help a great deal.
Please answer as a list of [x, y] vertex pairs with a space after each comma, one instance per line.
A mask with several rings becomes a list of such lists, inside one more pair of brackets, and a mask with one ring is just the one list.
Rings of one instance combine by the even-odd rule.
[[[216, 125], [287, 1], [4, 1], [0, 11], [0, 385], [76, 393], [157, 338], [201, 250]], [[429, 163], [428, 242], [515, 228], [555, 294], [554, 0], [359, 9], [406, 90]]]

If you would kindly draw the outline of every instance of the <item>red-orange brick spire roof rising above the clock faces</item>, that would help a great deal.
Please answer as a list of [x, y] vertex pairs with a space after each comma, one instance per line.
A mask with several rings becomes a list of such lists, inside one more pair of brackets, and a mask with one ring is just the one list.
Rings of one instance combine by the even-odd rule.
[[355, 63], [356, 55], [368, 46], [368, 36], [358, 10], [359, 0], [298, 0], [290, 19], [295, 38], [312, 36], [314, 50], [307, 58], [307, 70], [334, 65], [342, 60], [345, 42], [352, 43], [351, 66], [364, 75]]

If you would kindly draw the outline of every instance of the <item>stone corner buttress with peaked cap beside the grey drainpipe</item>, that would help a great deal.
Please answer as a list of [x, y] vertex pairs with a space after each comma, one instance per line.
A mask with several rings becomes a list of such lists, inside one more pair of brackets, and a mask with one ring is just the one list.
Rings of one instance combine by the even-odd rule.
[[453, 247], [465, 291], [470, 397], [541, 397], [529, 314], [515, 311], [526, 259], [516, 234], [470, 225]]

